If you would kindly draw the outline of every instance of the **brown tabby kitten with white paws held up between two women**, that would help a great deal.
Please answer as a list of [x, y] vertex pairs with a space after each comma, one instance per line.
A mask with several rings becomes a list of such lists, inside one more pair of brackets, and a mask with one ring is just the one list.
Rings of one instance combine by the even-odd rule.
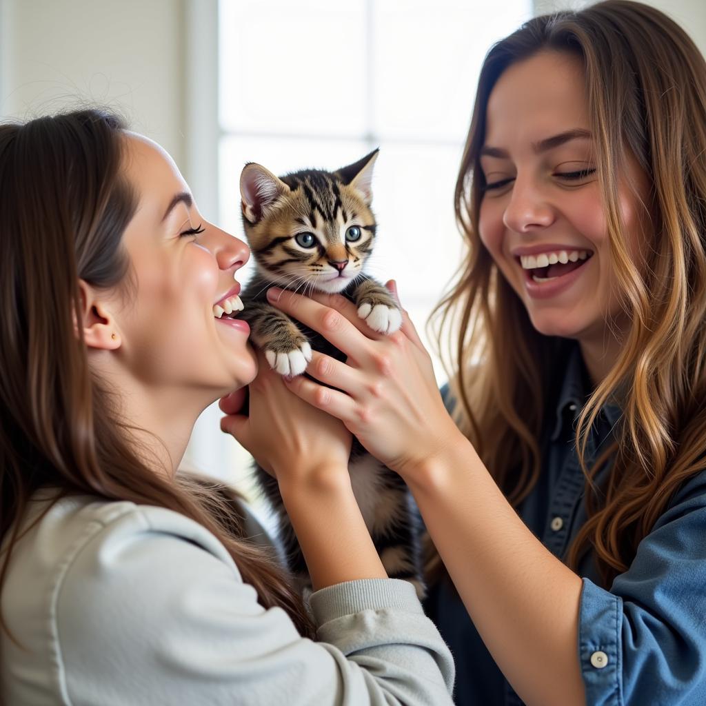
[[[275, 177], [260, 164], [246, 164], [243, 169], [243, 224], [257, 270], [241, 292], [240, 316], [251, 327], [253, 343], [282, 375], [304, 373], [312, 348], [341, 361], [345, 355], [269, 304], [265, 292], [270, 286], [303, 294], [338, 292], [354, 302], [358, 315], [373, 330], [393, 333], [400, 328], [397, 301], [388, 289], [363, 274], [376, 237], [371, 179], [377, 156], [375, 150], [336, 172], [306, 169]], [[421, 597], [417, 528], [404, 482], [355, 438], [349, 473], [385, 570], [390, 577], [411, 581]], [[289, 568], [304, 591], [311, 580], [277, 481], [258, 466], [256, 477], [277, 514]]]

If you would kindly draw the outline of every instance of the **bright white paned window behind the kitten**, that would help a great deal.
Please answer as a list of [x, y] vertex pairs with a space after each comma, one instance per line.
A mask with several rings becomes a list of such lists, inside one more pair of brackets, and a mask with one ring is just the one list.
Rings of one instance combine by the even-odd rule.
[[[379, 147], [369, 274], [397, 280], [424, 337], [460, 262], [453, 192], [479, 67], [493, 41], [531, 16], [531, 0], [220, 0], [222, 227], [242, 234], [246, 162], [275, 174], [336, 169]], [[203, 468], [208, 455], [205, 470], [220, 475], [238, 467], [242, 478], [246, 455], [229, 438], [213, 441], [218, 413], [206, 414], [191, 457]]]

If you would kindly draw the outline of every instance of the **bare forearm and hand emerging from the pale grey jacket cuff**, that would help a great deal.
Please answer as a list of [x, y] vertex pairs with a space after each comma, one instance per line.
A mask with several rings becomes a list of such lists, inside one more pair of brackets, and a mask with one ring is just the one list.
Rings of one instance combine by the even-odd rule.
[[240, 391], [223, 398], [221, 428], [277, 477], [314, 590], [387, 578], [353, 495], [345, 426], [292, 395], [262, 359], [249, 416], [238, 414], [241, 403]]

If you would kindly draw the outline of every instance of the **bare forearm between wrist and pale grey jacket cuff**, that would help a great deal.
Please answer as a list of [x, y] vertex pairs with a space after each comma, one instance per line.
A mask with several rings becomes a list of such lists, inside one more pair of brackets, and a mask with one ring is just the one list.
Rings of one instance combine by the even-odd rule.
[[387, 578], [347, 469], [280, 483], [280, 492], [314, 590], [361, 578]]

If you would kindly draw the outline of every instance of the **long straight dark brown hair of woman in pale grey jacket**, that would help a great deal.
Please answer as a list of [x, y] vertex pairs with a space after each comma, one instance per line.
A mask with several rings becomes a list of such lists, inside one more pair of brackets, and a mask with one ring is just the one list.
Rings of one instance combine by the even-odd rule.
[[0, 586], [32, 493], [52, 486], [57, 498], [88, 493], [196, 520], [261, 604], [281, 606], [311, 637], [301, 599], [239, 536], [237, 510], [217, 487], [180, 474], [169, 482], [140, 460], [76, 335], [79, 278], [131, 283], [122, 235], [137, 198], [121, 168], [125, 129], [100, 109], [0, 125]]

